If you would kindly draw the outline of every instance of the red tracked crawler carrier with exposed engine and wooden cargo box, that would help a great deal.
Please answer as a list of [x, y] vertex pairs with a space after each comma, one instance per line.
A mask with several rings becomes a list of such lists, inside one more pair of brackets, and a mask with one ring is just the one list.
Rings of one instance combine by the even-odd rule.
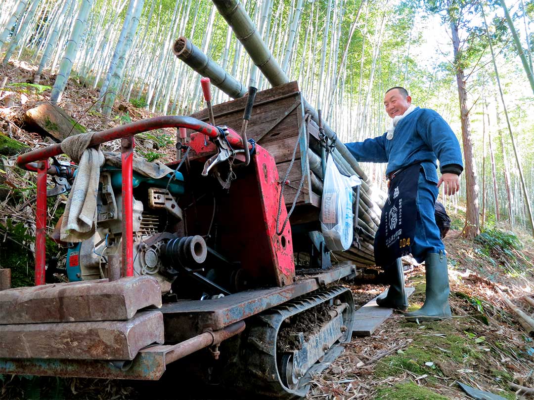
[[[340, 284], [358, 263], [332, 265], [321, 239], [308, 166], [319, 137], [296, 84], [257, 94], [249, 165], [228, 127], [245, 100], [214, 107], [217, 126], [168, 116], [93, 135], [90, 147], [121, 139], [122, 163], [100, 168], [95, 234], [64, 244], [69, 283], [43, 285], [46, 178], [68, 187], [78, 172], [49, 165], [59, 144], [19, 157], [37, 172], [37, 286], [0, 291], [0, 373], [158, 380], [183, 359], [180, 375], [194, 366], [241, 394], [306, 393], [310, 374], [351, 339], [354, 301]], [[147, 177], [133, 138], [163, 127], [176, 128], [179, 159]], [[371, 218], [362, 198], [361, 221]], [[372, 262], [355, 229], [347, 258]]]

